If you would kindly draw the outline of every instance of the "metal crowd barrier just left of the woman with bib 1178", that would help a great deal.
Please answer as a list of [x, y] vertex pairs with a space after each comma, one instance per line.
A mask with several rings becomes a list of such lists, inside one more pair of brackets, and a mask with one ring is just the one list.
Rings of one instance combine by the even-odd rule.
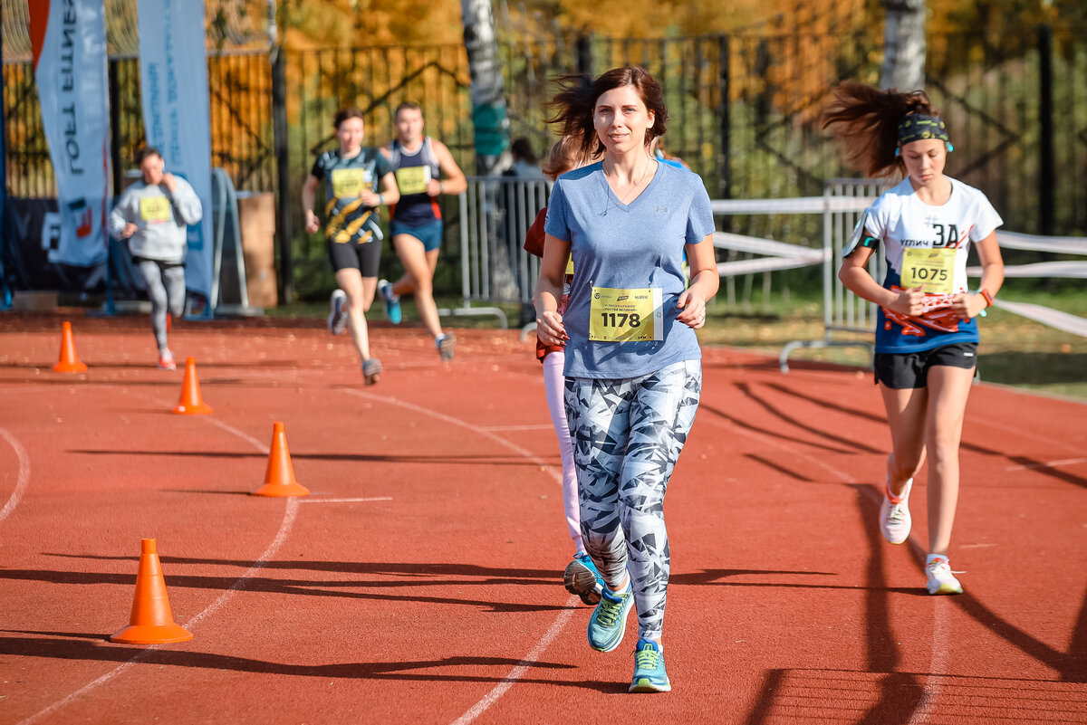
[[550, 187], [542, 178], [468, 178], [460, 195], [462, 305], [439, 315], [495, 315], [504, 330], [505, 311], [473, 303], [532, 303], [539, 259], [522, 245]]

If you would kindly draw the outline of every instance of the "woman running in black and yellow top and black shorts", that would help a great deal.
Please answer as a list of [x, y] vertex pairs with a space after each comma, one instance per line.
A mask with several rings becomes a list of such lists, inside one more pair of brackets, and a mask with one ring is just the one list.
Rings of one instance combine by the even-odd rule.
[[377, 207], [396, 204], [400, 192], [388, 160], [376, 149], [362, 147], [362, 111], [343, 109], [333, 125], [339, 149], [323, 153], [302, 185], [305, 231], [313, 234], [321, 228], [313, 203], [317, 185], [324, 181], [325, 244], [339, 285], [332, 295], [328, 330], [333, 334], [342, 333], [345, 327], [351, 330], [362, 374], [370, 385], [382, 374], [380, 360], [370, 355], [365, 315], [374, 302], [382, 259]]

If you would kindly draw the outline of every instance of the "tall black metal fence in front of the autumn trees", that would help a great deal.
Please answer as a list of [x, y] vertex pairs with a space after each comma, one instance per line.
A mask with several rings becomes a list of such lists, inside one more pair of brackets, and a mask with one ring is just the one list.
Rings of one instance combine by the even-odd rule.
[[[817, 195], [848, 176], [840, 149], [820, 128], [829, 90], [842, 79], [878, 81], [877, 34], [733, 34], [616, 39], [554, 34], [500, 46], [511, 136], [551, 138], [545, 104], [558, 75], [641, 64], [665, 91], [667, 151], [700, 174], [715, 199]], [[1087, 34], [1024, 28], [1014, 37], [929, 36], [926, 86], [955, 143], [948, 170], [982, 189], [1019, 231], [1087, 233]], [[461, 46], [263, 51], [209, 58], [213, 165], [242, 191], [277, 191], [280, 283], [315, 293], [327, 280], [323, 245], [302, 234], [298, 189], [316, 154], [334, 143], [343, 105], [366, 114], [367, 142], [391, 136], [403, 100], [423, 105], [427, 131], [462, 168], [472, 152], [470, 74]], [[142, 140], [138, 64], [110, 61], [115, 168]], [[7, 180], [15, 196], [54, 194], [28, 62], [5, 61]], [[277, 118], [278, 122], [277, 136]], [[1059, 151], [1059, 156], [1058, 156]], [[439, 291], [458, 290], [457, 224], [445, 205]], [[723, 222], [745, 225], [737, 218]], [[817, 230], [814, 232], [817, 234]], [[286, 240], [288, 243], [283, 243]]]

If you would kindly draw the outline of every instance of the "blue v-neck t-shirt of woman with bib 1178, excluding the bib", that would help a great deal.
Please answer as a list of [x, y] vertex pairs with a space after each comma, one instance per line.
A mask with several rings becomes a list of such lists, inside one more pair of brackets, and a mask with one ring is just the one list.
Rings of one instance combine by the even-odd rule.
[[[602, 162], [563, 174], [548, 202], [544, 229], [570, 242], [574, 280], [563, 323], [570, 378], [638, 378], [682, 360], [701, 359], [695, 331], [676, 321], [687, 287], [684, 247], [713, 231], [710, 196], [686, 169], [658, 164], [646, 189], [623, 204]], [[659, 340], [589, 339], [594, 288], [660, 290]]]

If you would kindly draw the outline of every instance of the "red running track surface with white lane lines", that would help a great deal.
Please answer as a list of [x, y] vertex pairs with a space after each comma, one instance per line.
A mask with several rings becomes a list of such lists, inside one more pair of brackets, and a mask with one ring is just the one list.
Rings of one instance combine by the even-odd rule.
[[[60, 319], [0, 317], [0, 723], [1087, 721], [1083, 404], [974, 389], [966, 594], [934, 598], [923, 507], [907, 545], [874, 523], [871, 379], [707, 349], [667, 497], [675, 689], [636, 696], [633, 632], [589, 650], [562, 588], [557, 446], [515, 332], [459, 330], [442, 364], [378, 326], [364, 387], [312, 321], [185, 322], [215, 408], [187, 417], [146, 320], [73, 318], [90, 370], [65, 376]], [[310, 497], [247, 495], [276, 420]], [[143, 537], [191, 641], [107, 640]]]

